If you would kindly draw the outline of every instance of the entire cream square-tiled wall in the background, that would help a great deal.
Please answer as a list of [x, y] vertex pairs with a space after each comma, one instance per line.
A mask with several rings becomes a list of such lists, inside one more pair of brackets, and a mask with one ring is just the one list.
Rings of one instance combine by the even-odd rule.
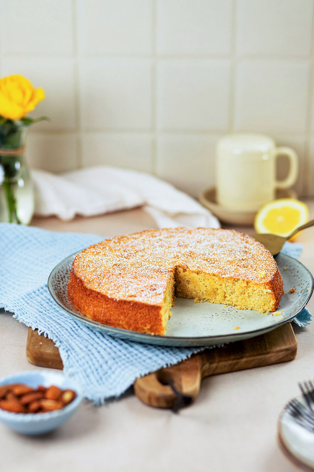
[[[314, 0], [1, 0], [0, 76], [46, 91], [32, 166], [115, 165], [196, 196], [215, 145], [257, 131], [314, 196]], [[286, 172], [280, 160], [279, 176]]]

